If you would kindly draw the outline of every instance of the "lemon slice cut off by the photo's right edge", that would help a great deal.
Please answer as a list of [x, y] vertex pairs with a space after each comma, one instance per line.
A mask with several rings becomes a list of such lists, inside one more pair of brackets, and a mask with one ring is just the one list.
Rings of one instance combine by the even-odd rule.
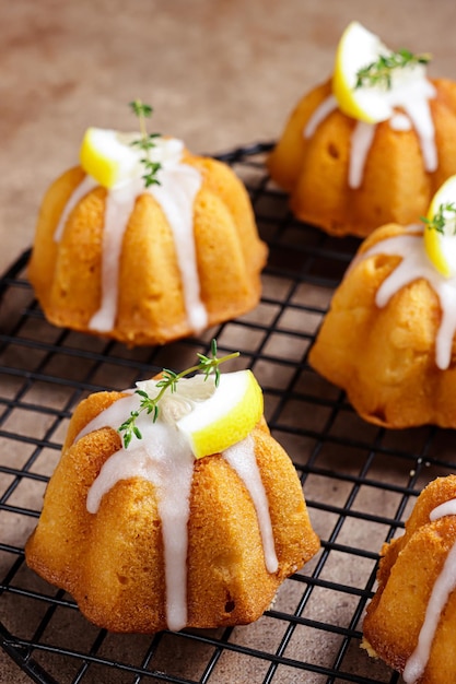
[[[453, 205], [454, 210], [448, 210]], [[435, 217], [443, 219], [441, 229]], [[456, 176], [439, 188], [429, 207], [424, 226], [424, 249], [433, 266], [445, 278], [456, 275]]]

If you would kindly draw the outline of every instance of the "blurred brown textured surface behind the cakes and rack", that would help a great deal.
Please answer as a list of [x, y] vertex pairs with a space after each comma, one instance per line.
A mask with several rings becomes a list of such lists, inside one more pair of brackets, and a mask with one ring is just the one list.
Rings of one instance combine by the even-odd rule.
[[[272, 140], [354, 19], [456, 79], [454, 0], [0, 0], [0, 272], [86, 127], [135, 128], [141, 97], [195, 152]], [[28, 681], [0, 652], [0, 682]]]

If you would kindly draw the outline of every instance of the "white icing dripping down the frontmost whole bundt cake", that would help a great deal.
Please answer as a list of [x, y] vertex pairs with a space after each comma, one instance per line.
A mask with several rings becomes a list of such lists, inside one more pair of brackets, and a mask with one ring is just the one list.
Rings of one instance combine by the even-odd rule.
[[[75, 441], [102, 427], [117, 429], [126, 415], [138, 410], [139, 402], [138, 394], [132, 393], [115, 401], [81, 431]], [[89, 490], [86, 507], [89, 512], [96, 514], [103, 496], [120, 480], [143, 477], [154, 485], [164, 546], [166, 621], [168, 628], [177, 632], [187, 624], [187, 523], [195, 458], [175, 424], [160, 420], [153, 423], [142, 413], [137, 425], [142, 439], [133, 438], [128, 449], [120, 448], [105, 461]], [[248, 436], [226, 449], [222, 457], [238, 473], [252, 496], [264, 542], [265, 564], [269, 573], [274, 573], [278, 561], [254, 439]]]

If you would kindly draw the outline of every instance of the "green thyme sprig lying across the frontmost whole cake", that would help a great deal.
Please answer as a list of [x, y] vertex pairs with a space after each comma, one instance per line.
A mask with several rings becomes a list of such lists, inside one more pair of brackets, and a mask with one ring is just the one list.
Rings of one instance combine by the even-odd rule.
[[219, 366], [226, 361], [235, 358], [239, 355], [239, 352], [234, 352], [232, 354], [226, 354], [221, 358], [217, 355], [217, 341], [212, 340], [211, 342], [211, 356], [204, 356], [204, 354], [197, 354], [199, 363], [195, 366], [190, 366], [186, 370], [182, 370], [180, 373], [174, 373], [174, 370], [169, 370], [168, 368], [164, 368], [162, 370], [162, 377], [156, 382], [155, 387], [160, 388], [160, 391], [155, 397], [151, 397], [147, 391], [142, 389], [135, 390], [136, 394], [141, 397], [141, 401], [139, 404], [139, 409], [137, 411], [131, 411], [129, 417], [118, 427], [117, 432], [124, 433], [124, 447], [128, 449], [128, 446], [131, 439], [137, 437], [138, 439], [142, 439], [141, 431], [137, 425], [137, 420], [141, 413], [145, 411], [148, 415], [151, 415], [152, 422], [155, 423], [159, 417], [159, 403], [163, 398], [165, 391], [169, 389], [172, 392], [175, 392], [177, 389], [178, 381], [192, 373], [201, 372], [204, 375], [204, 381], [211, 376], [214, 376], [215, 387], [219, 387], [220, 382], [220, 368]]

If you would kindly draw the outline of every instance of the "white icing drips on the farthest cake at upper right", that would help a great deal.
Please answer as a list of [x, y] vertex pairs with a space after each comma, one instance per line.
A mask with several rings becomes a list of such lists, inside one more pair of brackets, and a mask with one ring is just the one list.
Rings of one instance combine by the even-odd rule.
[[[391, 106], [390, 128], [404, 131], [413, 127], [419, 139], [424, 168], [429, 173], [434, 172], [439, 165], [435, 130], [429, 105], [429, 101], [434, 98], [435, 95], [434, 85], [426, 79], [419, 79], [411, 84], [397, 86], [384, 94]], [[337, 101], [334, 95], [326, 97], [308, 119], [304, 129], [304, 138], [312, 138], [320, 122], [337, 107]], [[398, 113], [393, 110], [394, 107], [404, 109], [405, 114], [398, 115]], [[350, 188], [356, 189], [362, 184], [363, 169], [375, 131], [376, 123], [366, 123], [364, 121], [358, 121], [353, 129], [348, 178]]]

